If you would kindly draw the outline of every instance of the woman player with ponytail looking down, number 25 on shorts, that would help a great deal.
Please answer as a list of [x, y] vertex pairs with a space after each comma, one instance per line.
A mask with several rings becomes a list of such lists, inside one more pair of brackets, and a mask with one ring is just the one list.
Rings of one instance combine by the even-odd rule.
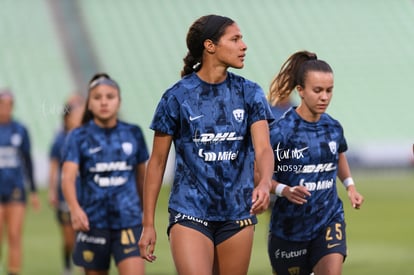
[[293, 54], [274, 78], [270, 94], [296, 89], [301, 103], [271, 125], [275, 154], [268, 253], [275, 274], [341, 274], [346, 256], [344, 210], [337, 176], [354, 208], [357, 192], [345, 156], [340, 123], [325, 113], [334, 88], [333, 71], [314, 53]]

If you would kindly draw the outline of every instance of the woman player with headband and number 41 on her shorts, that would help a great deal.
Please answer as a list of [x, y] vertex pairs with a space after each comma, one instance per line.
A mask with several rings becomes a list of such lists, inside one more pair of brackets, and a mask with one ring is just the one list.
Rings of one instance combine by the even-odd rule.
[[111, 255], [119, 274], [144, 274], [138, 240], [148, 152], [141, 129], [118, 120], [120, 103], [118, 84], [93, 76], [83, 125], [63, 150], [62, 189], [77, 231], [73, 260], [87, 275], [108, 274]]

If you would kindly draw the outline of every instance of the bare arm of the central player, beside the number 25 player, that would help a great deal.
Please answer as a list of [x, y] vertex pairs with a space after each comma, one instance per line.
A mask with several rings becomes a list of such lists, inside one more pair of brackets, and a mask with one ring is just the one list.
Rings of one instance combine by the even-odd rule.
[[252, 214], [259, 214], [269, 206], [269, 193], [272, 188], [274, 168], [273, 150], [270, 146], [269, 125], [267, 120], [252, 124], [251, 134], [255, 152], [255, 188], [253, 190]]

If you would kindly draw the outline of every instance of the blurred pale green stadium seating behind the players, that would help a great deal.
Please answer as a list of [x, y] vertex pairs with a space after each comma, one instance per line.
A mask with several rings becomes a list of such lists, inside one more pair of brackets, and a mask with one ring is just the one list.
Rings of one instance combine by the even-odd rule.
[[[72, 5], [57, 13], [56, 2]], [[119, 81], [122, 117], [140, 124], [151, 146], [148, 125], [162, 92], [179, 77], [187, 29], [209, 13], [239, 24], [249, 49], [237, 73], [265, 91], [297, 50], [314, 51], [332, 65], [328, 112], [345, 128], [352, 165], [412, 165], [411, 0], [2, 0], [0, 86], [16, 94], [15, 116], [29, 126], [39, 180], [63, 101], [73, 91], [86, 92], [91, 75], [84, 72], [106, 71]]]

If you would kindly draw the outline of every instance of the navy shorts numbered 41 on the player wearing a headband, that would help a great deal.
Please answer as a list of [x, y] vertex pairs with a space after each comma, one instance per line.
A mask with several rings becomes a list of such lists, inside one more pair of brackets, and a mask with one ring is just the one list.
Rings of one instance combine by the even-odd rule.
[[86, 269], [108, 270], [111, 255], [115, 263], [129, 257], [139, 257], [138, 241], [142, 226], [120, 230], [94, 229], [77, 232], [73, 262]]

